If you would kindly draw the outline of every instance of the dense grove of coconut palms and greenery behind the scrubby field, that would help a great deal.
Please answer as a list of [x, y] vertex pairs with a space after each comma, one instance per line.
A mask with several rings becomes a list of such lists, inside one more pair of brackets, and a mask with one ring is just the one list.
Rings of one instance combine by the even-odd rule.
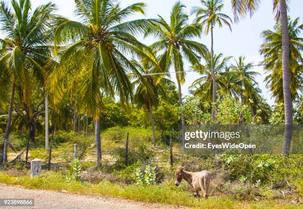
[[[236, 22], [252, 15], [259, 4], [259, 0], [231, 2]], [[179, 1], [169, 20], [159, 15], [130, 21], [126, 19], [133, 14], [145, 13], [144, 3], [126, 8], [115, 0], [75, 3], [79, 22], [59, 16], [52, 3], [32, 8], [30, 0], [0, 1], [5, 36], [0, 39], [4, 162], [11, 132], [27, 134], [28, 144], [33, 143], [36, 135], [44, 134], [46, 123], [51, 132], [94, 131], [97, 165], [101, 165], [100, 131], [112, 126], [151, 126], [156, 146], [155, 129], [162, 137], [181, 130], [184, 142], [187, 124], [302, 124], [303, 25], [299, 18], [287, 17], [285, 0], [274, 1], [276, 25], [261, 33], [260, 64], [268, 72], [265, 82], [277, 104], [273, 107], [261, 96], [256, 81], [261, 72], [253, 70], [256, 63], [245, 56], [213, 52], [213, 27], [232, 30], [232, 18], [221, 13], [222, 0], [201, 0], [192, 9], [196, 17], [192, 23]], [[204, 40], [194, 41], [202, 33], [211, 35], [210, 49]], [[152, 37], [154, 43], [138, 41], [142, 36]], [[185, 63], [191, 68], [186, 69]], [[199, 73], [191, 96], [181, 94], [187, 70]], [[174, 72], [176, 85], [168, 72]], [[291, 134], [285, 139], [290, 140]]]

